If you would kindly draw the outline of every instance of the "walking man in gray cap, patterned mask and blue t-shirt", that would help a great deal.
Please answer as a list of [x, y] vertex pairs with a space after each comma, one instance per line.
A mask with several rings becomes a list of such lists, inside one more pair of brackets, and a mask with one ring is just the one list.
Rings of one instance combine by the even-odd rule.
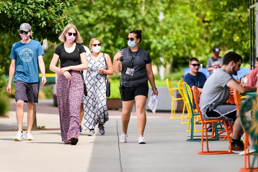
[[33, 107], [34, 103], [38, 103], [39, 92], [39, 69], [42, 73], [42, 85], [46, 84], [45, 64], [43, 61], [43, 49], [40, 42], [30, 39], [31, 26], [28, 23], [23, 23], [20, 26], [21, 41], [12, 45], [10, 58], [12, 59], [9, 69], [9, 82], [7, 92], [11, 91], [11, 83], [14, 76], [15, 87], [15, 101], [16, 117], [18, 123], [18, 132], [14, 138], [16, 141], [21, 141], [24, 136], [22, 132], [22, 119], [23, 119], [23, 104], [27, 103], [27, 140], [34, 140], [31, 134], [33, 125]]

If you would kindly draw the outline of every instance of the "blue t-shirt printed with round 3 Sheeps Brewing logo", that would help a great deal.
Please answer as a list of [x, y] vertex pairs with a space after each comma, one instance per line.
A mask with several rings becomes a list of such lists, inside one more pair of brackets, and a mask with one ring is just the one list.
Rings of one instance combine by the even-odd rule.
[[28, 43], [14, 43], [10, 55], [10, 58], [16, 60], [14, 80], [26, 83], [39, 82], [38, 56], [41, 55], [44, 55], [44, 52], [38, 41], [31, 39]]

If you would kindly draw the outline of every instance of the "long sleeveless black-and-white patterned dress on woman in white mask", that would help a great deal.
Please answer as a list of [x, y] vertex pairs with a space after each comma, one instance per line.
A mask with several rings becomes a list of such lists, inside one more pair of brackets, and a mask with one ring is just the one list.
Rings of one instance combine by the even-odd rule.
[[95, 61], [91, 55], [87, 56], [87, 60], [85, 83], [88, 95], [84, 96], [83, 130], [94, 129], [99, 122], [104, 125], [108, 121], [106, 76], [98, 71], [98, 68], [106, 69], [104, 53], [98, 61]]

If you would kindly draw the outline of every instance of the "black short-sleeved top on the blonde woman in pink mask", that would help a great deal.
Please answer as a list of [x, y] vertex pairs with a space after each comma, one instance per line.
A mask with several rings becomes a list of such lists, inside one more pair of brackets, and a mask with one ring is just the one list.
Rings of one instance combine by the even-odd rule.
[[64, 43], [57, 46], [54, 53], [59, 55], [61, 68], [79, 65], [79, 53], [77, 50], [77, 46], [79, 46], [80, 54], [86, 52], [82, 44], [76, 43], [75, 49], [71, 53], [66, 52]]

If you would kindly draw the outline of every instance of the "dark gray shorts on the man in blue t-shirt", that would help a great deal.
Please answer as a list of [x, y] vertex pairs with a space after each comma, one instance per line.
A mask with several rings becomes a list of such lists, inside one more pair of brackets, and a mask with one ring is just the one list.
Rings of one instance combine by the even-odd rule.
[[15, 101], [23, 100], [28, 103], [38, 103], [38, 83], [26, 83], [23, 81], [14, 81]]

